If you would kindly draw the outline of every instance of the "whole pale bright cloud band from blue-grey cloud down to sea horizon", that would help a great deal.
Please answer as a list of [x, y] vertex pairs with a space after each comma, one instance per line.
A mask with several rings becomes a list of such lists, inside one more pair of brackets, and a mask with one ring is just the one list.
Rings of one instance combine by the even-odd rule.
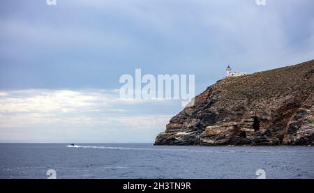
[[117, 90], [0, 93], [0, 141], [152, 142], [173, 116], [142, 106], [169, 108], [169, 100], [123, 100]]

